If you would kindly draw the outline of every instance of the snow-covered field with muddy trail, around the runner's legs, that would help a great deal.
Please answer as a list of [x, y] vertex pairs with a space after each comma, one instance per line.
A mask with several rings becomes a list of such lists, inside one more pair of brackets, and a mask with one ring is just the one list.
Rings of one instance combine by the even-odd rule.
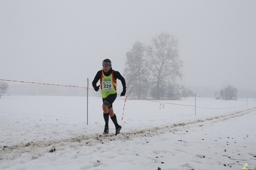
[[196, 98], [196, 115], [187, 106], [194, 98], [128, 98], [123, 115], [117, 97], [117, 136], [111, 120], [102, 135], [101, 98], [89, 97], [89, 125], [86, 104], [86, 97], [0, 98], [0, 169], [256, 169], [254, 98]]

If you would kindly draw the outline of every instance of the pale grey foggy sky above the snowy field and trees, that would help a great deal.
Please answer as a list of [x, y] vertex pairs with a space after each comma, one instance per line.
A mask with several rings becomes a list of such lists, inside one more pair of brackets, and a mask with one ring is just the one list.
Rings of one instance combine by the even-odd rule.
[[[256, 91], [256, 1], [0, 1], [0, 79], [85, 86], [105, 58], [162, 31], [179, 40], [184, 86]], [[121, 83], [119, 82], [119, 85]]]

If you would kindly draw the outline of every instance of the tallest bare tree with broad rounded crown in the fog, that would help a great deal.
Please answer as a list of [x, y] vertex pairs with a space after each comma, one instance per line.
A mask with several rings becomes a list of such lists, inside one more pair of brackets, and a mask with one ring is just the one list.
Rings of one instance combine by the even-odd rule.
[[152, 96], [159, 100], [169, 93], [168, 88], [176, 86], [177, 77], [182, 79], [183, 61], [179, 58], [178, 39], [162, 32], [153, 37], [152, 45], [147, 48], [147, 56]]

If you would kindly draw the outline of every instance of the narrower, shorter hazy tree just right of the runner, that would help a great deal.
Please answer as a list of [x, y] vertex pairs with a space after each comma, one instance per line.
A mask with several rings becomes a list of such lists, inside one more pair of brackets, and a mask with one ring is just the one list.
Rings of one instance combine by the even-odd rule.
[[147, 72], [145, 47], [141, 42], [135, 42], [132, 49], [126, 53], [124, 68], [128, 95], [146, 98], [148, 92]]

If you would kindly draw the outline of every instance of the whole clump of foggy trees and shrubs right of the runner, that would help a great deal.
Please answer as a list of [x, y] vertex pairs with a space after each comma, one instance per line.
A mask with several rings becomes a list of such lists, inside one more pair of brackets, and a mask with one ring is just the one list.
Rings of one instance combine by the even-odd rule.
[[182, 67], [175, 36], [162, 32], [149, 45], [135, 42], [126, 53], [127, 95], [157, 100], [189, 97], [191, 91], [176, 83], [177, 78], [182, 79]]

